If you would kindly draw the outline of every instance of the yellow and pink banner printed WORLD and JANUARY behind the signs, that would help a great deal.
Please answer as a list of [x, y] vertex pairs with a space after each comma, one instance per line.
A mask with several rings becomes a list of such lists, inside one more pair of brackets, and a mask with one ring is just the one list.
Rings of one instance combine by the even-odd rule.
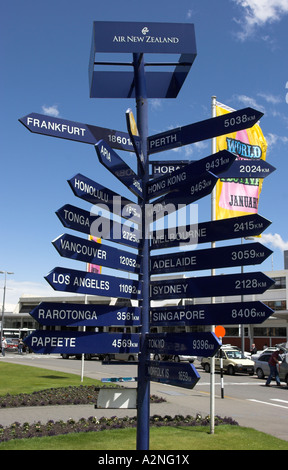
[[[232, 111], [217, 103], [217, 116]], [[267, 142], [260, 126], [255, 124], [251, 129], [217, 137], [216, 151], [220, 150], [229, 150], [241, 160], [266, 160]], [[262, 178], [219, 179], [216, 184], [216, 220], [257, 213], [262, 183]]]

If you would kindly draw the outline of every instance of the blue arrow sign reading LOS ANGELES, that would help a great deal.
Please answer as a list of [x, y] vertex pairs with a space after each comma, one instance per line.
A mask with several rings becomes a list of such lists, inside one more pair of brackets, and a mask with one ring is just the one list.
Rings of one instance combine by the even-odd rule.
[[126, 299], [141, 299], [142, 294], [141, 281], [74, 269], [54, 268], [45, 279], [57, 291]]

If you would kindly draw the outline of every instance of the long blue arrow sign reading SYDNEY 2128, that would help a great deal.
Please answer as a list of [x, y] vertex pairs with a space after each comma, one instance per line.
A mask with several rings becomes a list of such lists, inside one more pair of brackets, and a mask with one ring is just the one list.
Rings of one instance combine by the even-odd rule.
[[152, 281], [151, 299], [263, 294], [275, 281], [261, 272]]

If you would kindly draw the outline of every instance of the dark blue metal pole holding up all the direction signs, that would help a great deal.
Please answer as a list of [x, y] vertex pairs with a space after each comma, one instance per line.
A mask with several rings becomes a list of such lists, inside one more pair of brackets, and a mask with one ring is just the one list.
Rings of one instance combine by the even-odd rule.
[[139, 130], [142, 152], [144, 157], [143, 169], [138, 162], [138, 174], [143, 171], [143, 199], [138, 198], [138, 203], [142, 207], [142, 240], [140, 244], [140, 254], [143, 255], [143, 273], [139, 280], [143, 281], [142, 292], [142, 326], [141, 326], [141, 346], [138, 366], [138, 408], [137, 408], [137, 449], [149, 449], [149, 418], [150, 418], [150, 380], [146, 377], [145, 366], [149, 359], [145, 351], [145, 336], [149, 333], [149, 227], [145, 223], [145, 202], [147, 200], [147, 182], [149, 180], [149, 161], [147, 155], [148, 138], [148, 102], [145, 83], [144, 55], [133, 54], [134, 80], [136, 93], [137, 127]]

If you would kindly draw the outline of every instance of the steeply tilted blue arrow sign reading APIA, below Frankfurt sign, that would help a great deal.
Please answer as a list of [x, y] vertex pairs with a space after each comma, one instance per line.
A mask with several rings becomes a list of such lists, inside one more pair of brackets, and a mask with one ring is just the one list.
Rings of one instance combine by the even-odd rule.
[[143, 198], [142, 180], [134, 173], [119, 155], [104, 141], [100, 140], [95, 145], [100, 163], [127, 186], [130, 191]]

